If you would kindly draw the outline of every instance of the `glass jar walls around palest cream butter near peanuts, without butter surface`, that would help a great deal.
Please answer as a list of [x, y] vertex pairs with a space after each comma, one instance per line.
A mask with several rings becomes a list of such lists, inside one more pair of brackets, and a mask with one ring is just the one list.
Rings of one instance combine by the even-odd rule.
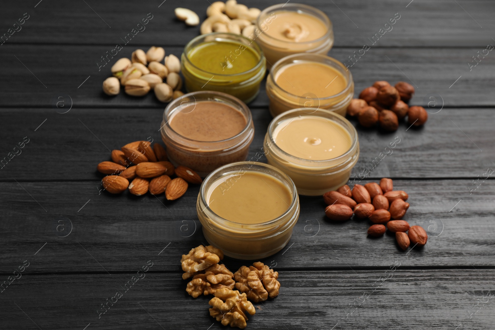
[[[346, 129], [351, 138], [351, 146], [347, 152], [333, 159], [308, 160], [282, 150], [273, 134], [277, 125], [284, 120], [307, 115], [321, 116]], [[359, 158], [359, 141], [354, 126], [343, 116], [323, 109], [299, 108], [278, 115], [270, 122], [263, 144], [268, 164], [290, 176], [300, 195], [322, 195], [346, 185], [350, 172]]]

